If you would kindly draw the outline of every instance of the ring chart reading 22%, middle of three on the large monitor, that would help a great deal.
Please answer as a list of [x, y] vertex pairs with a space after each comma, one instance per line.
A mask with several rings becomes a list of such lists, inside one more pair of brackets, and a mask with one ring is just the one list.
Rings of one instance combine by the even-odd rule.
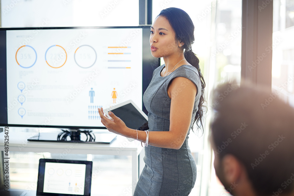
[[59, 45], [50, 46], [45, 53], [45, 61], [52, 68], [64, 66], [67, 59], [65, 49]]

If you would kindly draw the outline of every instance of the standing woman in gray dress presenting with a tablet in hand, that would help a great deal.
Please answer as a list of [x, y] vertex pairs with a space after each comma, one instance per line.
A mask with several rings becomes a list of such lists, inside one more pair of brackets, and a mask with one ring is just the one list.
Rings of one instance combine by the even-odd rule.
[[205, 82], [199, 60], [191, 50], [194, 25], [178, 8], [160, 12], [151, 26], [151, 54], [163, 57], [156, 68], [143, 102], [148, 110], [149, 131], [133, 130], [116, 117], [101, 122], [113, 132], [145, 143], [145, 167], [134, 196], [189, 195], [196, 180], [196, 164], [188, 146], [188, 134], [196, 122], [202, 127]]

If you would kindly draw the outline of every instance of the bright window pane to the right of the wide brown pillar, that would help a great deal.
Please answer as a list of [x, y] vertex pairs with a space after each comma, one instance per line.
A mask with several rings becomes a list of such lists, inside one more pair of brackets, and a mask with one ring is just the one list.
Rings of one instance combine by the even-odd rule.
[[294, 1], [273, 3], [272, 91], [294, 107]]

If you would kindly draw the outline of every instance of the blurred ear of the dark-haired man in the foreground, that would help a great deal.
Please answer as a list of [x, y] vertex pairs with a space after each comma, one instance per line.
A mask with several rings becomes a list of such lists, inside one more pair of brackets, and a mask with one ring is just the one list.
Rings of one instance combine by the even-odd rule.
[[224, 178], [228, 183], [234, 183], [240, 179], [243, 167], [235, 156], [225, 155], [222, 166]]

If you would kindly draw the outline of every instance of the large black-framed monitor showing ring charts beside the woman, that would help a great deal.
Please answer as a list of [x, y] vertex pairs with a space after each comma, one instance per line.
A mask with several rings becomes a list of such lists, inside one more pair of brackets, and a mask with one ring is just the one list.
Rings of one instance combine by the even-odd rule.
[[150, 26], [0, 29], [0, 126], [104, 128], [98, 107], [143, 93]]

